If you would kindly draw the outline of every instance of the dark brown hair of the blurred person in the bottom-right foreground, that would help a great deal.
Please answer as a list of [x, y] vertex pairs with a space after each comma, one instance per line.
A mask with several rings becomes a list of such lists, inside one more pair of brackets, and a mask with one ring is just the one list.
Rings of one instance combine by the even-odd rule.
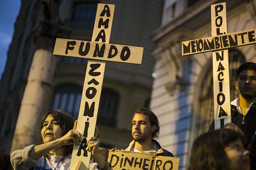
[[246, 142], [244, 136], [230, 129], [200, 135], [193, 143], [188, 170], [227, 169], [229, 159], [224, 148], [236, 139], [240, 139], [243, 144]]

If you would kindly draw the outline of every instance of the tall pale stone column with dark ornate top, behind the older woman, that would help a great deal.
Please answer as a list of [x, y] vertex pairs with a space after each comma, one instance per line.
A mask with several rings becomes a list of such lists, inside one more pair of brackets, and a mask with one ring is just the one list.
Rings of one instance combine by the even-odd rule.
[[53, 48], [56, 38], [68, 38], [70, 30], [58, 23], [61, 0], [42, 1], [40, 25], [33, 29], [36, 50], [31, 64], [27, 85], [21, 101], [20, 112], [10, 152], [42, 141], [40, 118], [47, 111], [56, 56]]

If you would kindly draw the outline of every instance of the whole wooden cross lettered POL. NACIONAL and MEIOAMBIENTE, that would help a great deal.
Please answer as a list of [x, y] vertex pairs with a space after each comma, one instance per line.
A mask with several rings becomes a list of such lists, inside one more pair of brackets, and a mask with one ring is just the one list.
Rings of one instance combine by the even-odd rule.
[[255, 44], [256, 29], [227, 34], [226, 3], [211, 5], [212, 37], [182, 42], [182, 55], [213, 51], [215, 129], [231, 122], [228, 48]]

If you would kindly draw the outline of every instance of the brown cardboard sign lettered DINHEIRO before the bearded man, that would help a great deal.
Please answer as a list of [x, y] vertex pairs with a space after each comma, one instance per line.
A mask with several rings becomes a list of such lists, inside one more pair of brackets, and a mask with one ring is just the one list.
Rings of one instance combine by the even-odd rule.
[[180, 158], [157, 156], [154, 152], [109, 151], [107, 162], [113, 170], [178, 170]]

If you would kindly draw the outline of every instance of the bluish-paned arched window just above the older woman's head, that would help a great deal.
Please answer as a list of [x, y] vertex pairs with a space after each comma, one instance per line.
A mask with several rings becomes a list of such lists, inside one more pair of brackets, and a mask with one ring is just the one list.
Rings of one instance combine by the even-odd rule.
[[54, 94], [52, 108], [65, 110], [76, 120], [78, 118], [82, 90], [82, 87], [78, 85], [59, 86]]

